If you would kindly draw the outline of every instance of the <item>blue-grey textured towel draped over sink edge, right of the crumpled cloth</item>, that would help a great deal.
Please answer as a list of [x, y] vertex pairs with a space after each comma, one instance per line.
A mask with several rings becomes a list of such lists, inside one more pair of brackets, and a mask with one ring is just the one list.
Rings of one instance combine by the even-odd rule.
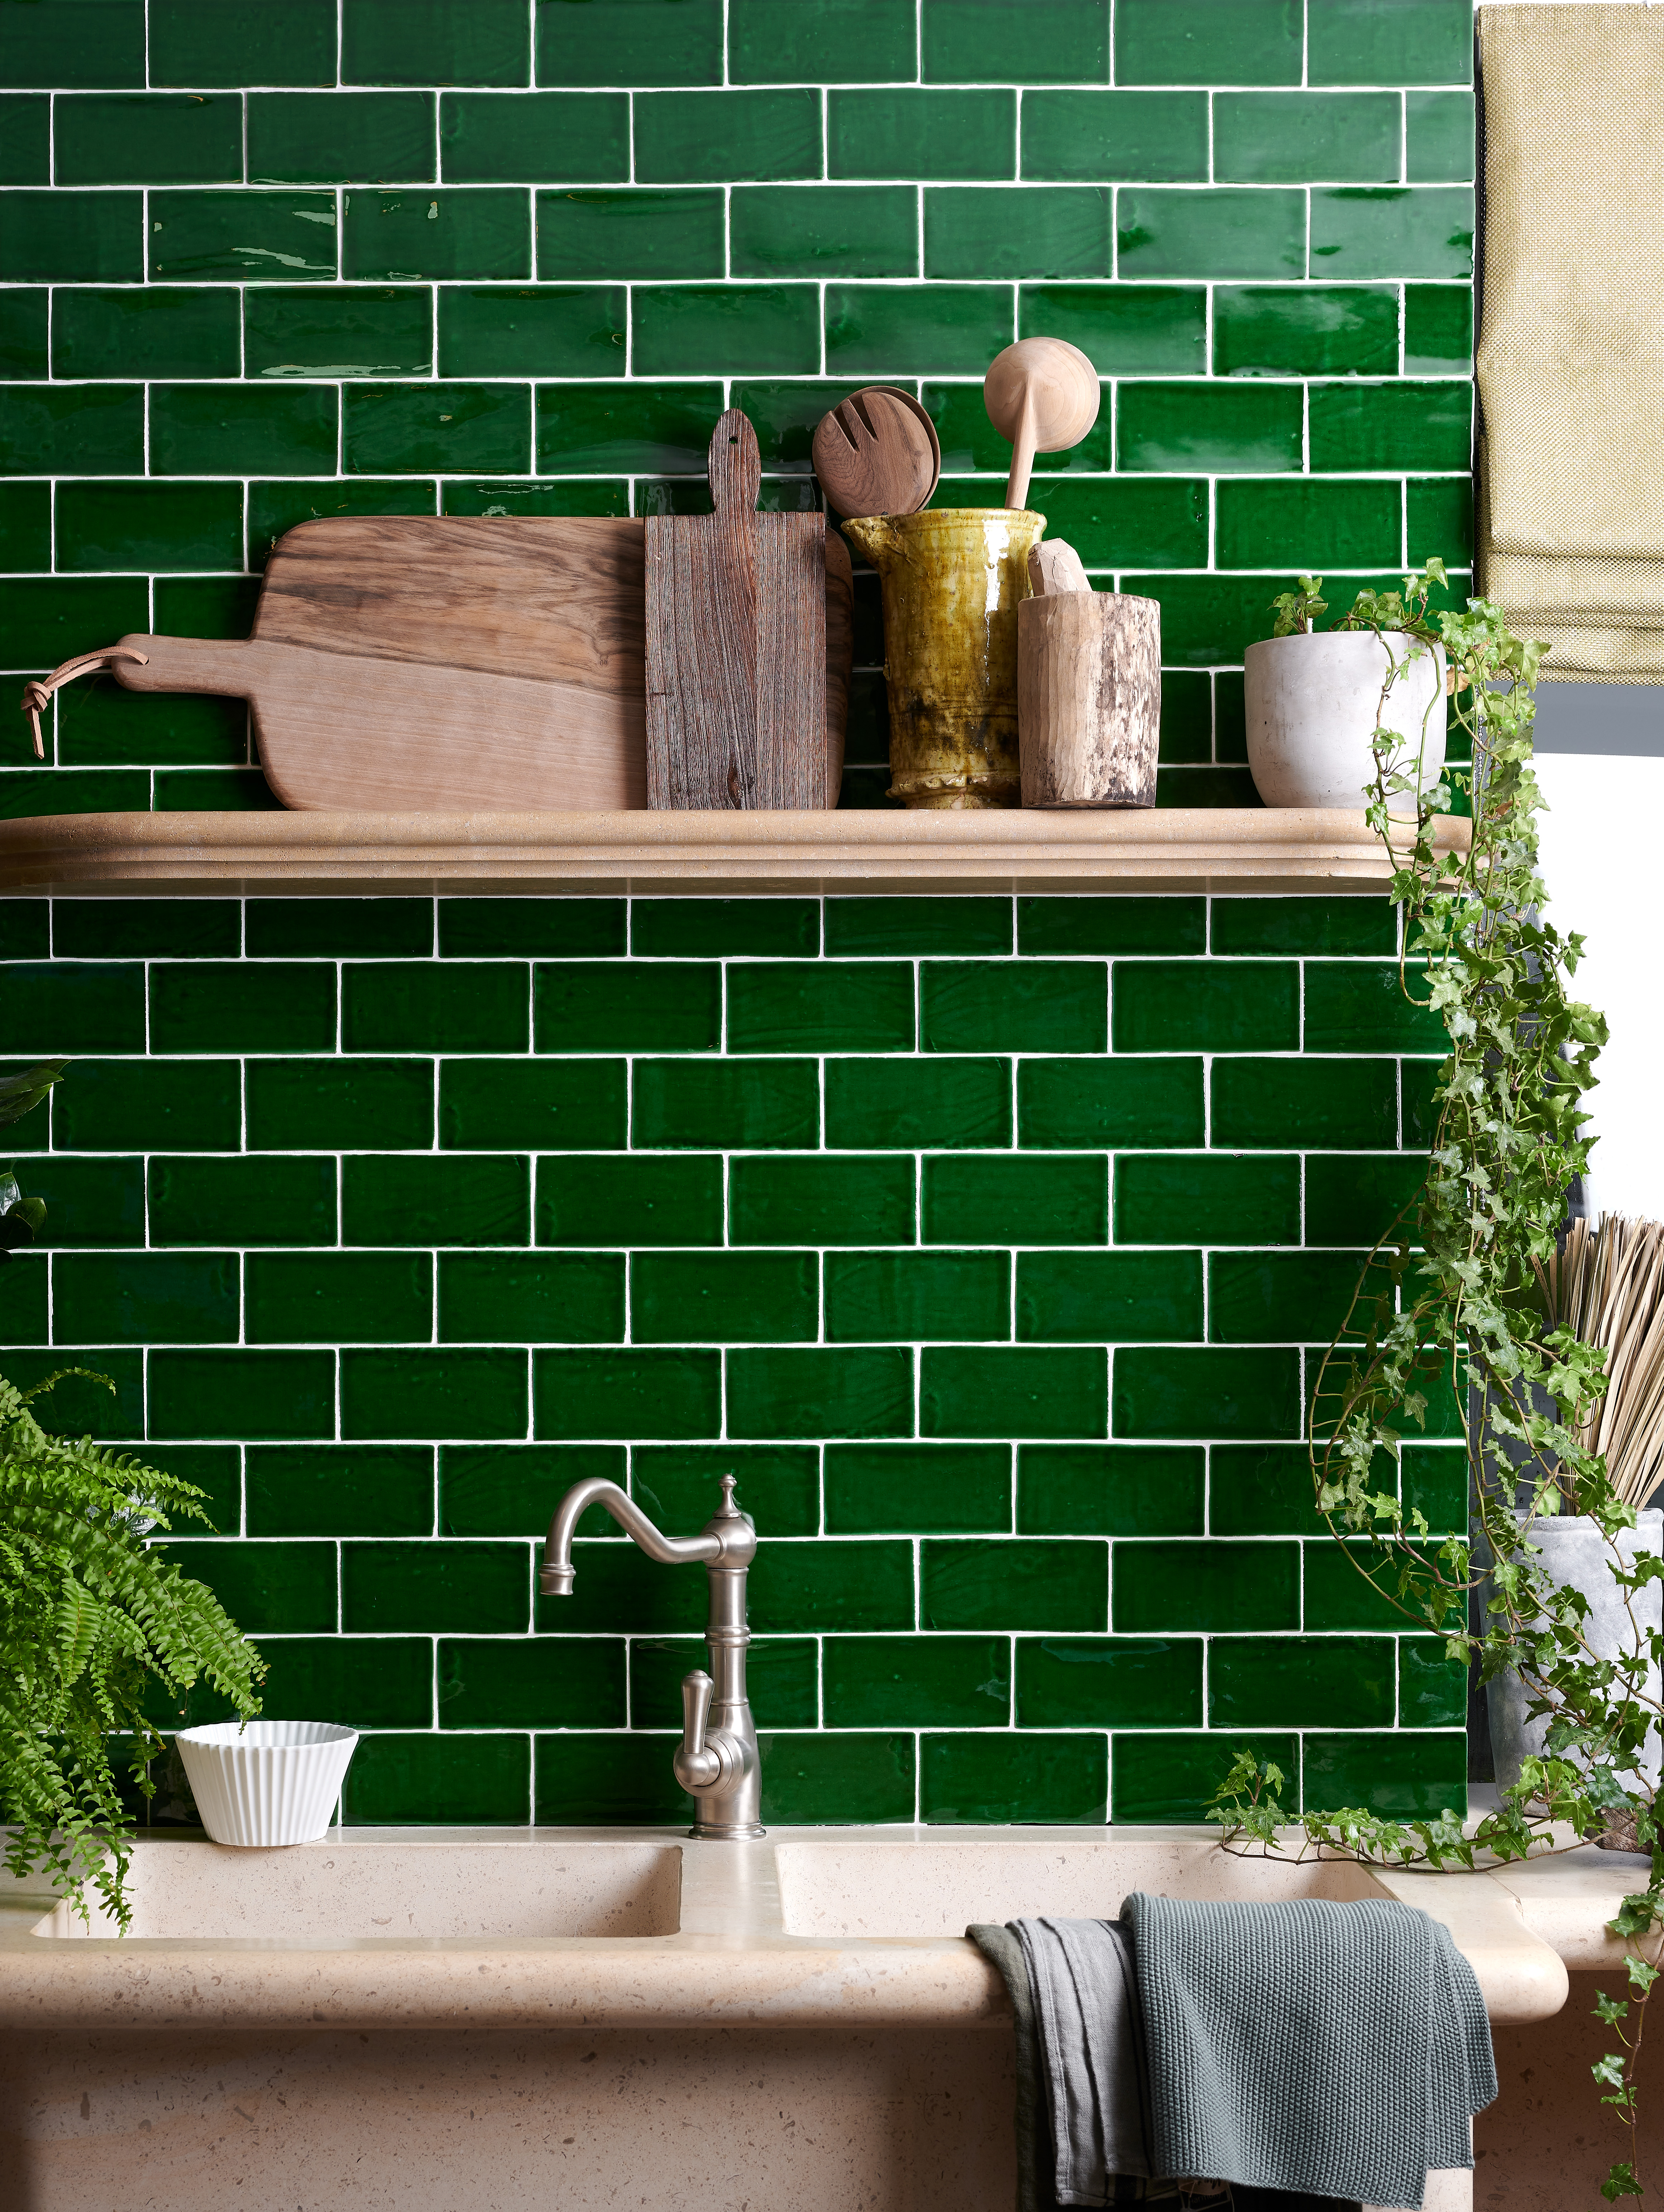
[[1157, 2174], [1418, 2212], [1496, 2097], [1485, 2000], [1449, 1929], [1390, 1898], [1135, 1893]]

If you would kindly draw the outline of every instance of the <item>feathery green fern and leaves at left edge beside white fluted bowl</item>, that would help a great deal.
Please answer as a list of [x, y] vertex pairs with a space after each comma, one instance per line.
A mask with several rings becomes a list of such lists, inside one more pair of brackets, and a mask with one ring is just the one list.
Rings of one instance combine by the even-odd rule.
[[[15, 1121], [44, 1097], [62, 1066], [0, 1084], [0, 1121]], [[18, 1199], [15, 1179], [0, 1177], [0, 1250], [20, 1210], [33, 1234], [44, 1206]], [[51, 1436], [40, 1425], [33, 1402], [66, 1376], [115, 1389], [84, 1367], [29, 1391], [0, 1378], [4, 1867], [15, 1876], [46, 1869], [89, 1924], [91, 1889], [126, 1931], [133, 1823], [111, 1765], [113, 1745], [124, 1741], [137, 1792], [153, 1796], [148, 1763], [166, 1741], [146, 1710], [150, 1686], [181, 1699], [206, 1677], [248, 1719], [259, 1712], [254, 1686], [266, 1666], [212, 1590], [148, 1548], [173, 1515], [206, 1524], [204, 1493], [91, 1436]]]

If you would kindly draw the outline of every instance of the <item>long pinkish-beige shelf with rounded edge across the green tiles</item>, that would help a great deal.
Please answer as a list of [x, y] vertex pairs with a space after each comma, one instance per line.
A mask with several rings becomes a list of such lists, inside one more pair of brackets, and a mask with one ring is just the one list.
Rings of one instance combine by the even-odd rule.
[[[1467, 823], [1441, 816], [1463, 852]], [[1381, 891], [1363, 812], [44, 814], [0, 891]]]

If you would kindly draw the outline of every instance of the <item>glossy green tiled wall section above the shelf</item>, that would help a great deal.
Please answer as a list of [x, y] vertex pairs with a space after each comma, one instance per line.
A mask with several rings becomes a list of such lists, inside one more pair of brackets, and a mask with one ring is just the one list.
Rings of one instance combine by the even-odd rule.
[[[1033, 504], [1162, 602], [1159, 799], [1255, 805], [1235, 670], [1290, 573], [1465, 582], [1469, 82], [1469, 0], [0, 0], [0, 670], [243, 635], [312, 515], [697, 511], [730, 403], [814, 502], [867, 378], [934, 416], [936, 504], [996, 502], [980, 376], [1051, 332], [1104, 396]], [[0, 816], [270, 803], [239, 703], [46, 723]]]

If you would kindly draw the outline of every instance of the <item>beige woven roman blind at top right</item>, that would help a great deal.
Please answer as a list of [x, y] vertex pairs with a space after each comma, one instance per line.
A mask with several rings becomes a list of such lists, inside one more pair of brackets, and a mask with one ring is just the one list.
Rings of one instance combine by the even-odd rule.
[[1480, 591], [1664, 681], [1664, 7], [1485, 7]]

